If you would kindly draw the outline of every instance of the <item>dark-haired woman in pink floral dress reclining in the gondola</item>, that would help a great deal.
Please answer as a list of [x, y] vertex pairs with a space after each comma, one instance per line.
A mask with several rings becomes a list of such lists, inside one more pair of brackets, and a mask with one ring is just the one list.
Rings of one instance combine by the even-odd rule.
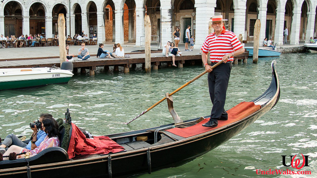
[[[47, 134], [43, 142], [40, 143], [38, 147], [33, 150], [23, 148], [17, 145], [12, 145], [10, 148], [3, 154], [3, 156], [9, 156], [10, 153], [15, 152], [16, 154], [25, 153], [17, 158], [25, 158], [25, 156], [35, 156], [39, 154], [42, 150], [48, 147], [59, 146], [59, 125], [56, 120], [52, 117], [45, 117], [42, 120], [42, 129]], [[3, 160], [8, 160], [9, 158], [5, 157]]]

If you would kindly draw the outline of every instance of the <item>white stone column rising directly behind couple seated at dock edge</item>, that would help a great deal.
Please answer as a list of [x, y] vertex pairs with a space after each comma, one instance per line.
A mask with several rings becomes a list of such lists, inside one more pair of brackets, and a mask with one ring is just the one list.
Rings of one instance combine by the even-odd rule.
[[164, 46], [167, 41], [172, 41], [172, 18], [173, 9], [169, 3], [161, 3], [161, 46]]

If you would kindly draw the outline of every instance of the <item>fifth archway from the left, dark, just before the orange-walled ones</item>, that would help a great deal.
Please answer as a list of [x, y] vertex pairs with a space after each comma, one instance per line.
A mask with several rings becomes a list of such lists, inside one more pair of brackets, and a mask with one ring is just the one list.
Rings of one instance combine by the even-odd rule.
[[85, 35], [89, 37], [93, 37], [94, 34], [97, 35], [98, 28], [97, 28], [97, 6], [95, 2], [90, 1], [87, 5], [87, 21], [88, 21], [88, 29], [89, 32], [84, 32]]

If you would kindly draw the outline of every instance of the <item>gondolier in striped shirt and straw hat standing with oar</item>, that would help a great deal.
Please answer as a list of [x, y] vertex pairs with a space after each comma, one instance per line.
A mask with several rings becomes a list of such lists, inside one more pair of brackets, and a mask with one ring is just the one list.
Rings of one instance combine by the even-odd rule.
[[[237, 36], [226, 31], [223, 27], [222, 16], [214, 16], [212, 18], [212, 27], [215, 32], [209, 34], [203, 43], [201, 50], [201, 58], [205, 70], [208, 73], [208, 87], [213, 108], [211, 109], [210, 119], [205, 127], [218, 126], [218, 120], [228, 120], [228, 114], [224, 110], [226, 101], [226, 92], [230, 72], [232, 68], [233, 56], [237, 56], [244, 52], [242, 44], [239, 42]], [[211, 66], [207, 63], [207, 53], [210, 52]], [[218, 62], [223, 61], [215, 69], [212, 66]]]

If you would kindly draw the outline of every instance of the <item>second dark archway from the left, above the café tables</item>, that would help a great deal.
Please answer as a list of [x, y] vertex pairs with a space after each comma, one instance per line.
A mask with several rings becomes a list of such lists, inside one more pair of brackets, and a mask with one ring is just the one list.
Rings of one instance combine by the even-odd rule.
[[[45, 7], [40, 2], [35, 2], [31, 5], [30, 15], [30, 34], [45, 34]], [[27, 34], [29, 35], [29, 34]]]

